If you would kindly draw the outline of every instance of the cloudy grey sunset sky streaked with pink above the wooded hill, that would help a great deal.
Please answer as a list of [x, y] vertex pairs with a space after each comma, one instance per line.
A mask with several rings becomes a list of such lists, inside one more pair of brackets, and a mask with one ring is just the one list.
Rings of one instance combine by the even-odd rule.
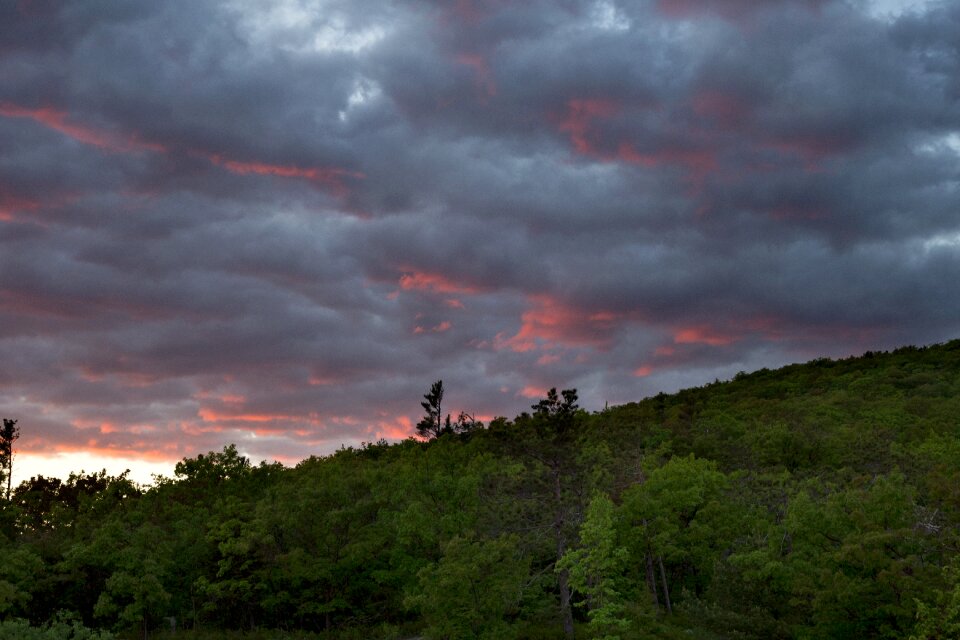
[[15, 481], [960, 336], [960, 3], [0, 4]]

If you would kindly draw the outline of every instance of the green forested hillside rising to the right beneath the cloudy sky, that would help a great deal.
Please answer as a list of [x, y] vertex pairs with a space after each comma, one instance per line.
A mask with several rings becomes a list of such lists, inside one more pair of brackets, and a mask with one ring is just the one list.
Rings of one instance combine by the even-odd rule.
[[34, 478], [3, 504], [0, 638], [956, 638], [958, 416], [954, 341], [595, 414], [551, 392], [295, 468]]

